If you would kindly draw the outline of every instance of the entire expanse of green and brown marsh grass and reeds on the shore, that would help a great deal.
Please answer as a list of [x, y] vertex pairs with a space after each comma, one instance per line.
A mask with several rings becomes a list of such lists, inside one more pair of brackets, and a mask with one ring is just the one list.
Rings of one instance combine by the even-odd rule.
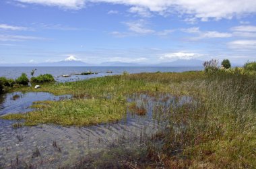
[[[243, 68], [241, 73], [231, 68], [219, 70], [215, 65], [215, 61], [205, 63], [205, 72], [124, 74], [42, 84], [36, 91], [72, 94], [74, 99], [36, 102], [33, 112], [2, 118], [24, 119], [23, 125], [107, 123], [122, 119], [127, 111], [146, 115], [145, 105], [129, 103], [131, 95], [160, 98], [162, 103], [168, 99], [161, 96], [171, 95], [177, 98], [173, 104], [152, 107], [154, 118], [166, 125], [148, 135], [146, 152], [140, 155], [154, 164], [129, 158], [126, 164], [135, 163], [138, 168], [255, 168], [255, 76]], [[183, 96], [193, 101], [181, 104]]]

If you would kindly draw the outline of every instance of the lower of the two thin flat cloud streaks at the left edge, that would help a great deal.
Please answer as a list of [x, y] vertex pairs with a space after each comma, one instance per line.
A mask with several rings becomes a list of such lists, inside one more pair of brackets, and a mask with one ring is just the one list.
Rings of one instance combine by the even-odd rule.
[[26, 40], [47, 40], [47, 39], [35, 37], [35, 36], [16, 36], [16, 35], [1, 35], [0, 34], [0, 41], [26, 41]]

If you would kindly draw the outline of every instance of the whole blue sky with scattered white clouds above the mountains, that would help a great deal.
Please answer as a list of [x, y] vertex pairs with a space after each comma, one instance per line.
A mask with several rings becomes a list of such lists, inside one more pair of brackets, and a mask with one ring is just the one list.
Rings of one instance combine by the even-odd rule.
[[255, 0], [1, 0], [0, 63], [256, 60]]

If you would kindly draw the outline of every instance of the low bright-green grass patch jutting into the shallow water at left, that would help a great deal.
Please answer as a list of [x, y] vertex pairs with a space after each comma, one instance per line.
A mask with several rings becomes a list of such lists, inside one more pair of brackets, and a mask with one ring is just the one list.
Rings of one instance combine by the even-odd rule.
[[50, 123], [57, 125], [94, 125], [117, 121], [125, 115], [125, 104], [114, 100], [75, 99], [35, 103], [42, 110], [26, 114], [9, 114], [3, 119], [24, 119], [24, 125]]

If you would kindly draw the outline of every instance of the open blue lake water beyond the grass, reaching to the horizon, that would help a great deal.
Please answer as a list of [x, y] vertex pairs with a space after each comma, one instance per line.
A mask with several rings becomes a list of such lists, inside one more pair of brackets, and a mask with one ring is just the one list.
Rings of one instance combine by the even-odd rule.
[[[0, 67], [0, 76], [5, 76], [7, 78], [18, 78], [22, 72], [26, 73], [30, 78], [30, 72], [32, 69], [36, 68], [34, 76], [40, 74], [53, 74], [55, 80], [58, 82], [65, 81], [76, 81], [84, 80], [88, 78], [107, 76], [111, 74], [122, 74], [123, 72], [129, 73], [140, 73], [140, 72], [184, 72], [189, 70], [202, 70], [202, 66], [195, 67]], [[98, 72], [98, 74], [90, 75], [72, 75], [70, 77], [57, 77], [63, 74], [79, 74], [82, 72]], [[106, 73], [107, 71], [112, 71], [113, 73]]]

